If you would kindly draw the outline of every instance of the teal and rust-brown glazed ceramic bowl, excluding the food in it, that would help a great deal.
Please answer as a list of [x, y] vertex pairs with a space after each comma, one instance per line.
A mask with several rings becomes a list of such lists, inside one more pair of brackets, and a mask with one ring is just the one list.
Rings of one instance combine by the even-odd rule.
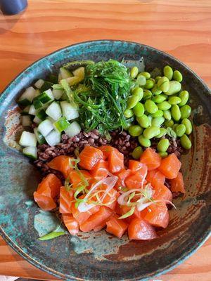
[[[193, 147], [181, 157], [186, 195], [174, 200], [170, 225], [158, 239], [129, 241], [104, 230], [99, 233], [63, 235], [39, 241], [39, 233], [52, 230], [52, 216], [40, 212], [32, 194], [39, 172], [14, 145], [20, 131], [15, 100], [32, 82], [56, 72], [70, 60], [140, 60], [146, 70], [172, 66], [184, 75], [195, 124]], [[62, 48], [27, 67], [1, 93], [0, 98], [0, 234], [15, 251], [37, 268], [62, 280], [148, 280], [177, 266], [193, 254], [210, 234], [211, 221], [211, 98], [205, 83], [186, 65], [150, 46], [127, 41], [89, 41]]]

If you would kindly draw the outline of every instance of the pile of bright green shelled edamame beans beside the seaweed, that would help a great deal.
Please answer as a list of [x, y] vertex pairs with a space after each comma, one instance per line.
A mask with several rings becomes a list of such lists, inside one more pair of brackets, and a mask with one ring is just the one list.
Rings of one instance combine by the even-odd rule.
[[158, 140], [161, 157], [167, 156], [167, 148], [170, 146], [168, 138], [171, 137], [180, 138], [183, 148], [191, 148], [188, 137], [193, 131], [189, 119], [191, 107], [187, 104], [189, 93], [181, 85], [183, 75], [170, 65], [163, 68], [163, 76], [153, 77], [153, 73], [139, 73], [137, 67], [131, 70], [134, 88], [127, 100], [124, 116], [134, 119], [128, 131], [131, 136], [138, 137], [141, 145], [132, 153], [134, 159], [141, 155], [141, 147], [151, 146], [153, 138]]

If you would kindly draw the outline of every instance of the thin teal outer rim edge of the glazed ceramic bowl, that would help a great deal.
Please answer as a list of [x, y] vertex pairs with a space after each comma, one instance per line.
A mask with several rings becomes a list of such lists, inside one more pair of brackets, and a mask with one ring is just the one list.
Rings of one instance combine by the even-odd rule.
[[[187, 65], [185, 65], [184, 63], [182, 63], [179, 59], [174, 58], [173, 55], [170, 55], [169, 53], [166, 53], [165, 51], [160, 51], [158, 48], [154, 48], [153, 46], [149, 46], [146, 44], [141, 44], [139, 42], [136, 41], [125, 41], [125, 40], [115, 40], [115, 39], [98, 39], [98, 40], [91, 40], [91, 41], [82, 41], [76, 44], [71, 44], [68, 46], [65, 46], [63, 48], [59, 48], [56, 51], [53, 51], [47, 55], [44, 55], [43, 57], [39, 58], [38, 60], [35, 60], [34, 63], [28, 65], [27, 67], [25, 67], [24, 70], [22, 70], [13, 80], [11, 80], [11, 82], [3, 89], [3, 91], [1, 91], [1, 95], [0, 95], [0, 102], [1, 100], [4, 100], [4, 98], [7, 96], [7, 89], [13, 84], [13, 82], [18, 79], [20, 77], [21, 74], [23, 74], [23, 72], [25, 72], [25, 70], [27, 70], [30, 67], [33, 67], [34, 65], [36, 65], [39, 61], [43, 60], [44, 58], [50, 57], [53, 54], [59, 53], [60, 51], [65, 51], [68, 48], [71, 48], [72, 46], [80, 46], [80, 45], [84, 45], [84, 44], [94, 44], [94, 43], [110, 43], [110, 42], [120, 42], [120, 43], [127, 43], [127, 44], [136, 44], [139, 46], [143, 46], [146, 48], [151, 48], [153, 49], [153, 51], [157, 51], [159, 53], [164, 54], [166, 57], [170, 58], [171, 60], [176, 61], [177, 63], [179, 63], [180, 65], [182, 65], [186, 70], [188, 70], [188, 72], [191, 72], [191, 74], [194, 75], [194, 77], [196, 77], [196, 79], [198, 79], [198, 81], [200, 81], [200, 84], [203, 84], [205, 90], [207, 91], [207, 93], [210, 94], [211, 96], [211, 90], [209, 89], [209, 87], [207, 86], [207, 84], [205, 83], [205, 81], [203, 81], [203, 79], [201, 79], [198, 74], [196, 74], [195, 72], [193, 72], [193, 70], [191, 70]], [[1, 112], [0, 112], [0, 116], [1, 116]], [[13, 242], [13, 240], [11, 240], [11, 238], [4, 232], [4, 229], [0, 226], [0, 235], [1, 237], [3, 237], [3, 239], [8, 243], [9, 246], [12, 247], [13, 250], [15, 250], [18, 254], [20, 254], [20, 256], [23, 257], [23, 259], [25, 259], [26, 261], [28, 261], [29, 263], [31, 263], [33, 266], [36, 266], [37, 268], [39, 268], [40, 270], [44, 270], [46, 273], [49, 273], [55, 277], [58, 278], [62, 278], [63, 280], [82, 280], [82, 281], [87, 281], [87, 279], [82, 279], [82, 278], [77, 278], [74, 276], [67, 276], [64, 273], [59, 273], [56, 270], [53, 270], [52, 268], [49, 268], [48, 266], [45, 266], [41, 263], [39, 263], [39, 261], [37, 261], [36, 259], [33, 259], [32, 256], [28, 255], [27, 253], [25, 253], [25, 251], [23, 251], [23, 249], [21, 249], [20, 247], [18, 247], [18, 244], [15, 244], [15, 242]], [[165, 268], [162, 269], [158, 269], [155, 271], [155, 273], [148, 273], [147, 277], [144, 277], [143, 279], [141, 279], [142, 281], [147, 281], [148, 278], [151, 277], [157, 277], [159, 275], [163, 275], [165, 273], [167, 273], [168, 271], [176, 268], [177, 266], [179, 266], [181, 263], [183, 263], [184, 261], [186, 261], [186, 259], [188, 259], [192, 254], [194, 254], [202, 245], [203, 243], [209, 239], [209, 237], [211, 237], [211, 226], [210, 228], [207, 229], [207, 231], [205, 233], [203, 233], [203, 236], [200, 237], [200, 240], [198, 240], [198, 242], [196, 242], [196, 244], [191, 247], [188, 251], [186, 251], [186, 253], [184, 253], [182, 256], [179, 257], [179, 259], [175, 259], [174, 261], [172, 261], [172, 263], [170, 263], [169, 265], [165, 266]], [[141, 281], [139, 277], [134, 277], [134, 278], [128, 278], [127, 281]]]

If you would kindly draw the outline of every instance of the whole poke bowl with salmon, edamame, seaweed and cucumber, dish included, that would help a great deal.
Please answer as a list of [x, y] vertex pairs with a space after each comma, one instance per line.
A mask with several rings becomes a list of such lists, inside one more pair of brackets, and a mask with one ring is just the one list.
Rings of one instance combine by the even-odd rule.
[[41, 58], [0, 96], [0, 234], [62, 280], [148, 280], [210, 234], [211, 100], [128, 41]]

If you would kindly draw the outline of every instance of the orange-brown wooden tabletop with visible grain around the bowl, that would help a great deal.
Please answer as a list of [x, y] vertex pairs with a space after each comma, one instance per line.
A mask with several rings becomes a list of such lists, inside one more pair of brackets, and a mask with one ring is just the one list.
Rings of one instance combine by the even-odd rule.
[[[186, 63], [211, 85], [210, 0], [29, 0], [24, 13], [0, 15], [0, 91], [20, 71], [58, 48], [122, 39], [148, 44]], [[157, 279], [210, 281], [211, 240]], [[56, 280], [0, 238], [0, 275]]]

